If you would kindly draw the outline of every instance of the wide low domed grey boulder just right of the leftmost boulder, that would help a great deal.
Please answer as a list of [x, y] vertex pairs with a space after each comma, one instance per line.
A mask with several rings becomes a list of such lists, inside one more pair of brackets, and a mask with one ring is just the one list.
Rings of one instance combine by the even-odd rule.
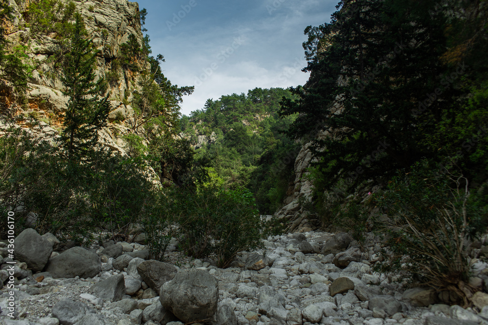
[[53, 278], [92, 278], [102, 270], [100, 257], [81, 247], [73, 247], [50, 258], [45, 271]]

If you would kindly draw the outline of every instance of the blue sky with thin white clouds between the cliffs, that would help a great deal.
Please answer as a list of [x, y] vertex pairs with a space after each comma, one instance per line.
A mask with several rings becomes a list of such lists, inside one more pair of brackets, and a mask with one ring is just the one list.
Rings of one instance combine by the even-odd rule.
[[139, 0], [152, 55], [178, 86], [195, 86], [181, 113], [207, 99], [303, 85], [308, 25], [330, 21], [338, 0]]

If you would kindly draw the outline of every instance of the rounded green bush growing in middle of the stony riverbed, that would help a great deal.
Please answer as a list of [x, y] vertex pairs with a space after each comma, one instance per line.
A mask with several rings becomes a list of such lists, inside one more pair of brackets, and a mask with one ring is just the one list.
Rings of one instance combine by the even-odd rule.
[[213, 257], [226, 268], [241, 252], [262, 248], [260, 215], [252, 193], [205, 187], [198, 191], [177, 189], [171, 215], [186, 253]]

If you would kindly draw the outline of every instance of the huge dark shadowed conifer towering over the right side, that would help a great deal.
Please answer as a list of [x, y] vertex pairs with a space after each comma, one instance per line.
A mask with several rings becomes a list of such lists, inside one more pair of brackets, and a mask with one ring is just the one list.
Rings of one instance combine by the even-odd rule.
[[[435, 1], [339, 5], [330, 24], [305, 30], [311, 76], [294, 89], [300, 99], [282, 108], [283, 115], [300, 114], [291, 135], [314, 140], [326, 187], [340, 179], [357, 185], [435, 155], [426, 134], [454, 95], [439, 86], [447, 40], [445, 17], [428, 14]], [[437, 87], [442, 96], [431, 95]], [[318, 137], [320, 130], [329, 136]]]

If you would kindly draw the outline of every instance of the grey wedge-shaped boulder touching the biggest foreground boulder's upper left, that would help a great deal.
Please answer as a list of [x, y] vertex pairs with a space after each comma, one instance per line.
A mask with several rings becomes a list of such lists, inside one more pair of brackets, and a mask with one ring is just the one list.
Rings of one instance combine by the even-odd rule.
[[163, 284], [172, 280], [178, 271], [173, 265], [156, 260], [149, 260], [138, 265], [137, 271], [151, 289], [159, 292]]

